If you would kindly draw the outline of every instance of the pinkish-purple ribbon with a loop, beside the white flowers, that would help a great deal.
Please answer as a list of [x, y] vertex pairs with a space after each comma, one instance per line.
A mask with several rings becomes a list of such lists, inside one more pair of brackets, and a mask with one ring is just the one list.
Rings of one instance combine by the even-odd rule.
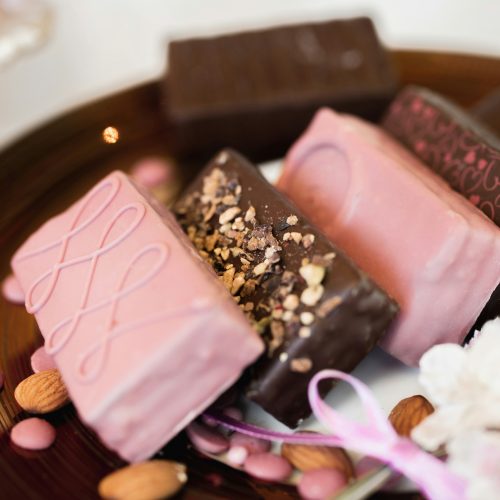
[[[367, 424], [343, 417], [321, 399], [318, 384], [326, 379], [343, 380], [351, 385], [368, 417]], [[323, 370], [310, 381], [308, 396], [315, 417], [331, 435], [273, 432], [212, 412], [207, 415], [229, 429], [261, 439], [340, 446], [356, 451], [377, 458], [404, 474], [431, 500], [465, 499], [465, 481], [453, 474], [441, 460], [424, 452], [413, 441], [399, 436], [383, 415], [370, 389], [357, 378], [337, 370]]]

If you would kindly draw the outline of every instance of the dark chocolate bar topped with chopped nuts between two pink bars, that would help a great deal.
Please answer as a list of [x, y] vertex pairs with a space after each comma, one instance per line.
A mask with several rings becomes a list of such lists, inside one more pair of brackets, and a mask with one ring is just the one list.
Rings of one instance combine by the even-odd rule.
[[295, 427], [310, 414], [312, 376], [351, 371], [397, 304], [234, 151], [219, 153], [174, 211], [265, 339], [247, 396]]

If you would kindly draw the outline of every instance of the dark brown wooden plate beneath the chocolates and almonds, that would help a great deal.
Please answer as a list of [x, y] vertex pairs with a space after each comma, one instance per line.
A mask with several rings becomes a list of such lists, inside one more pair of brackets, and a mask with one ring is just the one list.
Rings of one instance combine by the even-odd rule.
[[[403, 83], [431, 87], [465, 106], [500, 85], [500, 59], [411, 51], [395, 51], [394, 58]], [[159, 101], [159, 84], [148, 83], [71, 111], [0, 153], [0, 276], [9, 272], [10, 256], [30, 231], [106, 171], [128, 169], [144, 155], [167, 154]], [[120, 132], [116, 144], [102, 140], [109, 125]], [[0, 497], [94, 498], [99, 479], [122, 462], [73, 409], [49, 417], [58, 430], [49, 450], [27, 452], [10, 444], [9, 429], [26, 417], [13, 391], [31, 373], [30, 355], [40, 344], [33, 318], [0, 299], [0, 363], [6, 380], [0, 394]], [[251, 480], [200, 457], [182, 435], [161, 453], [188, 465], [189, 483], [179, 498], [296, 498], [292, 488]]]

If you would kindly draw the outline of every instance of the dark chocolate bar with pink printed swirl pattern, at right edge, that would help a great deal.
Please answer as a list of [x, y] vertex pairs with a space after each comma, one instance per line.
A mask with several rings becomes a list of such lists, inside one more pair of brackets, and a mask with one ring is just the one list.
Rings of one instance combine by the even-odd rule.
[[406, 87], [383, 127], [500, 225], [500, 139], [457, 105]]

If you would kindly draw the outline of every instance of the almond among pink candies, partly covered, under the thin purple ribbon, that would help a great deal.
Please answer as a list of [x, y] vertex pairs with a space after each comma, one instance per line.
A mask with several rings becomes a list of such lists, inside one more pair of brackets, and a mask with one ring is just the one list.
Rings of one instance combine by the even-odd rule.
[[349, 481], [355, 476], [349, 455], [342, 448], [283, 443], [281, 455], [302, 472], [314, 469], [337, 469]]

